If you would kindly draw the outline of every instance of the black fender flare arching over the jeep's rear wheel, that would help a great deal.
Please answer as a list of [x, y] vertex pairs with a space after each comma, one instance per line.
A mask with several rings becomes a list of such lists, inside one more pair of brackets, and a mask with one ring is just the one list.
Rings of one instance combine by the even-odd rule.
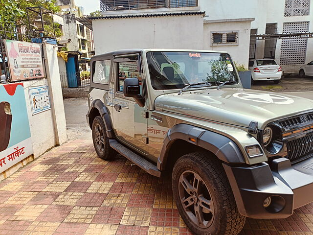
[[104, 125], [106, 126], [108, 138], [114, 138], [114, 131], [112, 128], [112, 121], [110, 118], [110, 114], [108, 112], [107, 107], [104, 105], [104, 103], [100, 99], [95, 99], [90, 104], [89, 111], [86, 115], [88, 121], [89, 121], [89, 114], [90, 114], [91, 110], [94, 108], [97, 109], [100, 113], [100, 116], [104, 122]]

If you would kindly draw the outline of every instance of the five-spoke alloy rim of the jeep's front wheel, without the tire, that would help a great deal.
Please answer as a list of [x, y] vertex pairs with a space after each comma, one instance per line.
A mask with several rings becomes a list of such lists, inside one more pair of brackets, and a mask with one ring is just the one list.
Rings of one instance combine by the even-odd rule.
[[179, 197], [189, 219], [200, 228], [208, 228], [214, 218], [214, 205], [208, 187], [196, 172], [184, 171], [179, 177]]

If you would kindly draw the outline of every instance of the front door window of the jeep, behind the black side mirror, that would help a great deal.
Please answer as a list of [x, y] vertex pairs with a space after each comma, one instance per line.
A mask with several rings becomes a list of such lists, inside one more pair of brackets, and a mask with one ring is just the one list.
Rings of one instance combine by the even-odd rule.
[[138, 78], [141, 83], [141, 73], [138, 70], [136, 61], [118, 63], [117, 91], [123, 92], [124, 80], [126, 78]]

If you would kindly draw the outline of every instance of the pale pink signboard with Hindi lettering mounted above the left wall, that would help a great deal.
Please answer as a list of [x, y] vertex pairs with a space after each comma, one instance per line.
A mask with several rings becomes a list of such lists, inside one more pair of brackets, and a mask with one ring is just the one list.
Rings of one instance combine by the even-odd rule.
[[42, 46], [4, 40], [12, 81], [44, 77]]

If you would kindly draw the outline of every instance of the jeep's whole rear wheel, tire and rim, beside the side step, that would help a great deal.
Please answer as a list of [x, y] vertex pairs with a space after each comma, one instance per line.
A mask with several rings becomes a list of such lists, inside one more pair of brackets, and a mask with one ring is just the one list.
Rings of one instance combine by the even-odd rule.
[[110, 147], [106, 127], [100, 116], [95, 117], [92, 122], [92, 141], [99, 158], [109, 160], [116, 155], [117, 152]]

